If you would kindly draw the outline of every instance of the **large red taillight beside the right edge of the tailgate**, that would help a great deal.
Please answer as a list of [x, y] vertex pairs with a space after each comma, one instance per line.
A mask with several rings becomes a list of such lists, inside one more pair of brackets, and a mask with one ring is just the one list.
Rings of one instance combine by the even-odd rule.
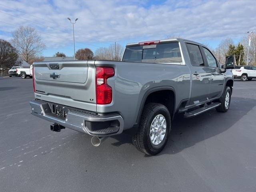
[[112, 88], [107, 79], [114, 76], [111, 67], [96, 67], [96, 104], [110, 104], [112, 102]]

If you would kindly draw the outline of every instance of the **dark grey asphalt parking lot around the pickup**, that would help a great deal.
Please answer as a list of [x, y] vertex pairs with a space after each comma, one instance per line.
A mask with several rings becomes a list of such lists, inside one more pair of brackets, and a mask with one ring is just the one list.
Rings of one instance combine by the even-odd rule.
[[178, 116], [145, 156], [124, 134], [99, 147], [30, 114], [32, 79], [0, 77], [0, 191], [255, 192], [256, 79], [234, 82], [230, 110]]

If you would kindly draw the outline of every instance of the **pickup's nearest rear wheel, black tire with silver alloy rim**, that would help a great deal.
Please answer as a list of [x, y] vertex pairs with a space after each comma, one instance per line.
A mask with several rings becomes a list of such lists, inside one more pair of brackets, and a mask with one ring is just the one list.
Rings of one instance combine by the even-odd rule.
[[138, 132], [132, 137], [132, 142], [139, 151], [147, 155], [156, 155], [166, 145], [170, 128], [171, 117], [166, 106], [158, 103], [146, 104]]

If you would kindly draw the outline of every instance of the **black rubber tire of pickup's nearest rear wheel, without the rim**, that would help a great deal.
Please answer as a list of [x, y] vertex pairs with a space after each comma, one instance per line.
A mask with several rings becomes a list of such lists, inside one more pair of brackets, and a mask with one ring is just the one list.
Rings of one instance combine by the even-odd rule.
[[[150, 127], [154, 118], [159, 114], [166, 119], [166, 132], [162, 141], [158, 145], [153, 145], [150, 140]], [[171, 117], [166, 106], [158, 103], [146, 104], [142, 112], [138, 132], [132, 137], [132, 143], [139, 151], [147, 155], [156, 155], [161, 152], [166, 145], [170, 128]]]

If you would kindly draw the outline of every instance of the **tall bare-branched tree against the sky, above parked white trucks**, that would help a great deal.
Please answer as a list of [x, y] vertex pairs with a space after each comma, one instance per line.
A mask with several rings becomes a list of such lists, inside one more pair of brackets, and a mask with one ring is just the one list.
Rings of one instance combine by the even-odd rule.
[[32, 58], [41, 54], [45, 44], [38, 32], [30, 26], [20, 26], [12, 32], [12, 45], [18, 50], [20, 57], [32, 64]]

